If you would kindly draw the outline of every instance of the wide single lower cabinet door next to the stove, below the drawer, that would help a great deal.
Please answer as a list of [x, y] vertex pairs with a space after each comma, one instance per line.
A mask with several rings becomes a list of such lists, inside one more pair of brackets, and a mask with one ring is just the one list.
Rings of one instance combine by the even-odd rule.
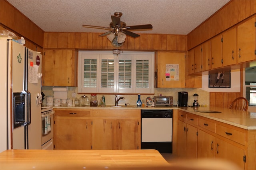
[[54, 146], [55, 149], [90, 149], [90, 120], [54, 118]]

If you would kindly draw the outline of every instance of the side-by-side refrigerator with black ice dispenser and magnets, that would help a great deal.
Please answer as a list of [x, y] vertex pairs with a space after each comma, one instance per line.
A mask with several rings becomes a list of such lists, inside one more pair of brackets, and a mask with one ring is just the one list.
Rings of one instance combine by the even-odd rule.
[[0, 151], [41, 149], [42, 55], [0, 38]]

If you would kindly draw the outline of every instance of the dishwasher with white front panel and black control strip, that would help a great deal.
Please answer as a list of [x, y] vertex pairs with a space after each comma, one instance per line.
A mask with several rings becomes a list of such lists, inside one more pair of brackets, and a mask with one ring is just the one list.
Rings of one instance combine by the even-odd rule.
[[172, 109], [141, 110], [141, 149], [172, 153]]

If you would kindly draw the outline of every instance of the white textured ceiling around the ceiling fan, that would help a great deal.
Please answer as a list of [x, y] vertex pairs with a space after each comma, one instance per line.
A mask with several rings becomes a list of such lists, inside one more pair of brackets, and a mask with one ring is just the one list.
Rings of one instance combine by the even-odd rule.
[[229, 0], [8, 0], [44, 31], [106, 32], [82, 27], [109, 27], [111, 15], [122, 12], [127, 26], [152, 24], [149, 31], [187, 35]]

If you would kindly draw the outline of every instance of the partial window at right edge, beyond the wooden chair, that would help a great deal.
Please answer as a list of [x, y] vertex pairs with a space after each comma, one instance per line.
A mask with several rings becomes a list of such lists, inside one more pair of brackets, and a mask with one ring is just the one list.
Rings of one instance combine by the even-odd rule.
[[245, 96], [249, 106], [256, 106], [256, 67], [245, 68]]

